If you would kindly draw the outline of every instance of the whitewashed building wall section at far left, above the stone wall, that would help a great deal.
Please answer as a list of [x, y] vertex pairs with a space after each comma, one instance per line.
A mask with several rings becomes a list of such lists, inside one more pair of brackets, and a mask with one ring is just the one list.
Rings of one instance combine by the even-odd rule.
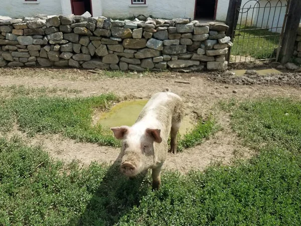
[[0, 15], [20, 18], [23, 16], [33, 17], [37, 14], [62, 14], [61, 0], [38, 0], [30, 4], [24, 3], [30, 2], [25, 2], [24, 0], [2, 0], [0, 1]]

